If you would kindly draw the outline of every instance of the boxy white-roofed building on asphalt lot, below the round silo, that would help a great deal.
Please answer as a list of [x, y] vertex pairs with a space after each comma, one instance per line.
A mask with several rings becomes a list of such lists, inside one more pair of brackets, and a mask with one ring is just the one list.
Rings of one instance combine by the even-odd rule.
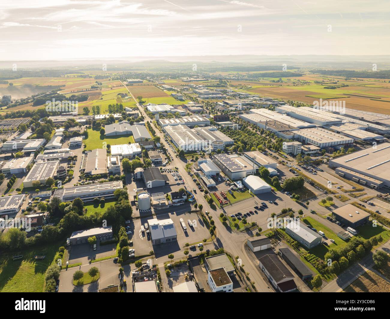
[[153, 218], [148, 220], [147, 223], [149, 224], [152, 245], [177, 241], [175, 224], [172, 219], [158, 220], [157, 218]]

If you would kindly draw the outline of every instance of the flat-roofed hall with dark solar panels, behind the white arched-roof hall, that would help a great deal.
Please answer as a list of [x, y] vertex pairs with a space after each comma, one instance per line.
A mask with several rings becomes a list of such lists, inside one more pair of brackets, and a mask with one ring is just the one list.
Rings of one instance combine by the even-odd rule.
[[[213, 162], [227, 175], [232, 181], [242, 179], [248, 175], [256, 173], [259, 168], [248, 159], [237, 154], [215, 154]], [[253, 167], [254, 166], [254, 167]]]

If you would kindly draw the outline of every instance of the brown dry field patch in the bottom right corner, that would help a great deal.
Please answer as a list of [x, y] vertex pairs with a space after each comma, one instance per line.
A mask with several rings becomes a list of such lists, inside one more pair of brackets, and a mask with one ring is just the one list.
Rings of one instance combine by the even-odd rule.
[[390, 284], [372, 271], [367, 271], [351, 285], [344, 289], [344, 292], [389, 292]]

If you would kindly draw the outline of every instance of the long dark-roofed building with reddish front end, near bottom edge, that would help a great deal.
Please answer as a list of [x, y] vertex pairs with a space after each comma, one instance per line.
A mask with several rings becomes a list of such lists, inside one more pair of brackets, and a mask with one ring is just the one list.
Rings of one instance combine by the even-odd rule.
[[289, 292], [297, 289], [293, 280], [294, 275], [277, 255], [268, 254], [259, 258], [259, 267], [277, 291]]

